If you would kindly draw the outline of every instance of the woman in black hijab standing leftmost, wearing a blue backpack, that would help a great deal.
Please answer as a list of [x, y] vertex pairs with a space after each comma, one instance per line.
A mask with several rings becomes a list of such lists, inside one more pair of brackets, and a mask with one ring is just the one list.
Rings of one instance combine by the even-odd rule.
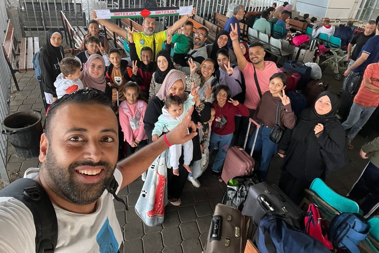
[[41, 84], [48, 104], [52, 104], [57, 99], [54, 82], [58, 75], [61, 74], [59, 65], [65, 57], [63, 46], [61, 45], [62, 38], [63, 35], [59, 29], [51, 28], [47, 32], [46, 44], [42, 47], [38, 57], [41, 68]]

